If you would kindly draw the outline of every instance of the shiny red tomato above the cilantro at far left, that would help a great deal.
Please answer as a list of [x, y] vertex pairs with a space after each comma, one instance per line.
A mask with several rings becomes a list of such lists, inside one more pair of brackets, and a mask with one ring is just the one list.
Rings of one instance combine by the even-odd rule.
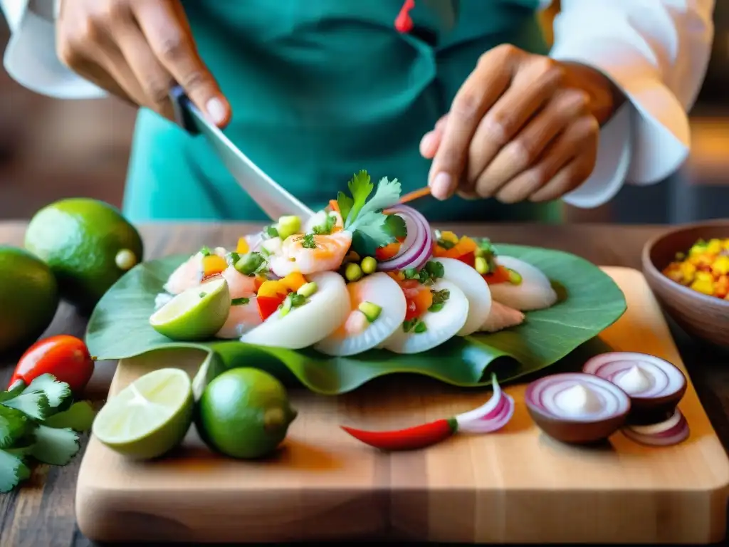
[[93, 369], [93, 358], [82, 340], [69, 335], [51, 336], [37, 341], [20, 357], [8, 389], [21, 382], [27, 386], [38, 376], [50, 373], [69, 384], [74, 395], [80, 395]]

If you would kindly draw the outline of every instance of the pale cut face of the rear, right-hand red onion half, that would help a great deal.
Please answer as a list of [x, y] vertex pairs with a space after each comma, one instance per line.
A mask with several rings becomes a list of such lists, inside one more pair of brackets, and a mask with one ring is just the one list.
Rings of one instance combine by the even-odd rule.
[[582, 372], [606, 379], [631, 397], [641, 399], [668, 397], [686, 389], [686, 376], [676, 365], [644, 353], [596, 355], [585, 363]]

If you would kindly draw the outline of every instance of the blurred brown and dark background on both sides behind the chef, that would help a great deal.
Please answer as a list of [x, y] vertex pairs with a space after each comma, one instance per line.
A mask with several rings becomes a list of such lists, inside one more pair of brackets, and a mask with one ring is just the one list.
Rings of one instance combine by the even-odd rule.
[[[627, 186], [599, 209], [570, 209], [569, 220], [674, 223], [729, 216], [729, 1], [716, 4], [712, 60], [690, 116], [690, 160], [659, 185]], [[547, 36], [557, 10], [555, 4], [542, 14]], [[0, 18], [3, 50], [8, 38]], [[112, 98], [39, 96], [0, 70], [0, 219], [28, 219], [46, 203], [71, 196], [120, 206], [135, 114]]]

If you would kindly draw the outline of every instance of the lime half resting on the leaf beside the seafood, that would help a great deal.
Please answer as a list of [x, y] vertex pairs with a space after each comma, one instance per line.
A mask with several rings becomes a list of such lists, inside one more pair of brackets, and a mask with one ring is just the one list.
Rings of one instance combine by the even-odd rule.
[[176, 295], [149, 317], [149, 325], [173, 340], [205, 340], [217, 333], [230, 313], [230, 291], [222, 277]]

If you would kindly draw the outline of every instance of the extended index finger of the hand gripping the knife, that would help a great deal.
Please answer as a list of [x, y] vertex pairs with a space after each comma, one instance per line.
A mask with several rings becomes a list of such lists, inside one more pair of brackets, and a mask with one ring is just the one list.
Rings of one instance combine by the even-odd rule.
[[230, 104], [198, 54], [178, 0], [142, 1], [134, 7], [141, 31], [162, 66], [195, 106], [219, 126], [230, 121]]

